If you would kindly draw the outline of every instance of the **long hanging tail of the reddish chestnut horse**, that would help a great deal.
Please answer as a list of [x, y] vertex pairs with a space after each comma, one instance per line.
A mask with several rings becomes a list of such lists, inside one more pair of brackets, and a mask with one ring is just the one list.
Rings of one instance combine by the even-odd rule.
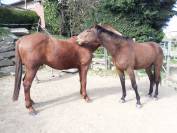
[[15, 86], [14, 86], [14, 93], [13, 93], [13, 101], [18, 100], [21, 78], [22, 78], [22, 61], [19, 54], [19, 43], [20, 41], [18, 40], [16, 42], [16, 50], [15, 50]]

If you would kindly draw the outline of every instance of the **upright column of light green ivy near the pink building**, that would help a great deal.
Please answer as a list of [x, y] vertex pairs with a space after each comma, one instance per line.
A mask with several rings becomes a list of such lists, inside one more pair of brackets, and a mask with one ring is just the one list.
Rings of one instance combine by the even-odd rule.
[[60, 15], [58, 13], [58, 1], [57, 0], [45, 0], [44, 2], [44, 14], [45, 14], [45, 22], [46, 28], [52, 34], [60, 33]]

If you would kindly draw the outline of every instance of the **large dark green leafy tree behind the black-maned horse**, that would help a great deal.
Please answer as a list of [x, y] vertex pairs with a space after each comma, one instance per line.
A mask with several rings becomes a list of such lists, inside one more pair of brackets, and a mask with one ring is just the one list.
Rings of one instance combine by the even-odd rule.
[[175, 0], [101, 0], [97, 8], [98, 22], [112, 24], [126, 36], [137, 41], [160, 42], [162, 27], [176, 11]]

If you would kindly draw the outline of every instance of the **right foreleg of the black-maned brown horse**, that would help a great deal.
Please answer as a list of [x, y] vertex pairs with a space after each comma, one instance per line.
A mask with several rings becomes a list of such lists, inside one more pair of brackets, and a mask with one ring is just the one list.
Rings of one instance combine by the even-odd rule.
[[136, 100], [137, 100], [136, 105], [139, 108], [142, 105], [141, 105], [141, 102], [140, 102], [140, 96], [139, 96], [139, 93], [138, 93], [138, 87], [137, 87], [137, 84], [136, 84], [135, 74], [134, 74], [133, 69], [128, 69], [127, 72], [128, 72], [129, 77], [130, 77], [132, 87], [133, 87], [133, 89], [135, 91], [135, 94], [136, 94]]

